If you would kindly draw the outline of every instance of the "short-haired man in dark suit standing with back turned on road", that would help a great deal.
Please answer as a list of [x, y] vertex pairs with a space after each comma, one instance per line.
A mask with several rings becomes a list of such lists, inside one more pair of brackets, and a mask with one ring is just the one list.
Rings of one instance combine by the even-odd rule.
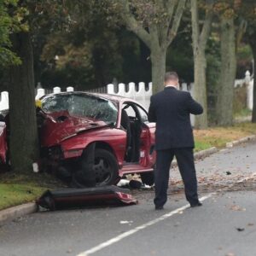
[[189, 92], [178, 90], [177, 73], [166, 73], [165, 85], [165, 90], [151, 97], [148, 111], [149, 121], [156, 122], [155, 209], [163, 209], [167, 201], [169, 170], [174, 155], [183, 178], [186, 199], [191, 207], [200, 207], [193, 154], [195, 143], [189, 114], [201, 114], [203, 108]]

